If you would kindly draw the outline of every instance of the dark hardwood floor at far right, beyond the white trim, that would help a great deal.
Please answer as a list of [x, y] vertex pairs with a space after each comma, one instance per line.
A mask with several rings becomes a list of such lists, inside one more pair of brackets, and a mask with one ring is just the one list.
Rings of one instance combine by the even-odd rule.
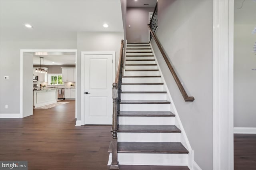
[[234, 134], [234, 170], [256, 170], [256, 134]]

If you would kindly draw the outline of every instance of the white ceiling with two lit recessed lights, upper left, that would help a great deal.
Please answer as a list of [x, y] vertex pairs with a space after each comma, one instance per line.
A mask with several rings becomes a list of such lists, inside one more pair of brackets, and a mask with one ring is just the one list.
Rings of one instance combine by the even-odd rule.
[[0, 0], [1, 41], [76, 40], [77, 32], [123, 31], [120, 0]]

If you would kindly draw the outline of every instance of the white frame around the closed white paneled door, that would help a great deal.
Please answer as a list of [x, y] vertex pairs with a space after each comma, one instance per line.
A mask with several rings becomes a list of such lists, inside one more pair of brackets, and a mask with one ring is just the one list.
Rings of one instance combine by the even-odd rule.
[[[84, 55], [112, 55], [112, 82], [114, 83], [116, 78], [116, 51], [81, 51], [81, 125], [84, 125]], [[113, 107], [112, 107], [113, 109]], [[112, 111], [113, 112], [113, 111]]]

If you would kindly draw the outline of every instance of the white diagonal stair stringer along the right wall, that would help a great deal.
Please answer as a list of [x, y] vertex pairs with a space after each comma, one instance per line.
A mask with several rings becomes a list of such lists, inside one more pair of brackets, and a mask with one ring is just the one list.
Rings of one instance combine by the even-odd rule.
[[178, 111], [177, 111], [177, 109], [176, 109], [176, 107], [175, 107], [175, 104], [174, 104], [174, 101], [173, 101], [173, 99], [172, 99], [172, 96], [171, 96], [171, 94], [170, 94], [170, 91], [169, 91], [169, 89], [168, 89], [168, 87], [167, 87], [167, 85], [166, 85], [166, 81], [165, 81], [165, 79], [164, 79], [164, 75], [163, 75], [163, 73], [162, 73], [162, 70], [161, 70], [161, 68], [160, 68], [160, 65], [159, 65], [159, 63], [158, 63], [158, 60], [157, 60], [157, 58], [156, 58], [156, 55], [155, 55], [155, 53], [154, 53], [154, 49], [153, 49], [153, 47], [152, 47], [152, 44], [151, 44], [151, 42], [149, 43], [150, 44], [150, 47], [151, 47], [151, 50], [152, 50], [152, 53], [153, 53], [153, 55], [154, 55], [154, 59], [155, 59], [155, 61], [156, 61], [156, 64], [157, 64], [157, 67], [158, 67], [158, 69], [159, 69], [159, 73], [160, 73], [160, 75], [161, 75], [161, 77], [162, 77], [162, 81], [163, 81], [163, 83], [164, 83], [164, 90], [167, 92], [167, 97], [169, 98], [169, 99], [167, 99], [167, 100], [169, 100], [170, 102], [171, 102], [171, 112], [172, 113], [174, 113], [175, 114], [175, 125], [176, 125], [176, 127], [178, 127], [180, 130], [181, 130], [181, 134], [180, 134], [180, 142], [185, 146], [185, 148], [188, 150], [188, 168], [189, 169], [192, 169], [192, 164], [193, 164], [193, 162], [194, 162], [194, 150], [192, 150], [192, 147], [191, 147], [191, 145], [190, 145], [190, 143], [189, 143], [189, 140], [188, 140], [188, 137], [187, 137], [187, 135], [186, 135], [186, 132], [185, 132], [185, 130], [184, 130], [184, 127], [183, 127], [183, 125], [182, 125], [182, 123], [181, 123], [181, 120], [180, 120], [180, 117], [179, 117], [179, 114], [178, 114]]

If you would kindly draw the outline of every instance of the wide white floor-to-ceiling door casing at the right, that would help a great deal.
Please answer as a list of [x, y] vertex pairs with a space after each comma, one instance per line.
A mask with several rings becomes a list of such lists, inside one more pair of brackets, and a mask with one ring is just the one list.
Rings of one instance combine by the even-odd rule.
[[234, 169], [234, 0], [213, 0], [213, 170]]

